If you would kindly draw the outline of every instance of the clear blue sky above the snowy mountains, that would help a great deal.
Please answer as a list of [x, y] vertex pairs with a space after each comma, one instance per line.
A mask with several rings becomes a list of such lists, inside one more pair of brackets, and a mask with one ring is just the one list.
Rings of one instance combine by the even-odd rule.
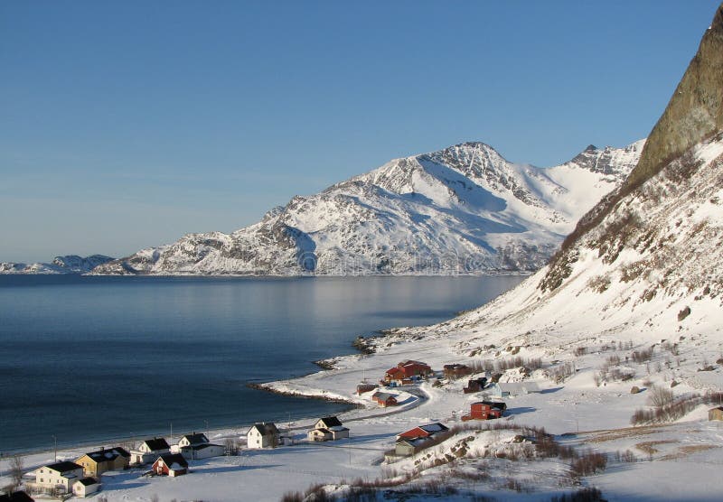
[[249, 225], [479, 140], [647, 135], [718, 1], [0, 2], [0, 261]]

